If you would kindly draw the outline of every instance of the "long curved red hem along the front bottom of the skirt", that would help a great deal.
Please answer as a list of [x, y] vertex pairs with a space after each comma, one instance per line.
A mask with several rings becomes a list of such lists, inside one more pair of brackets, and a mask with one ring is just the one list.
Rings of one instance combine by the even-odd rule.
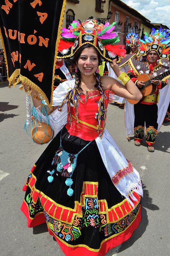
[[54, 236], [54, 238], [56, 239], [56, 241], [59, 244], [59, 247], [61, 248], [61, 250], [63, 251], [63, 253], [66, 256], [67, 255], [69, 255], [69, 256], [79, 256], [79, 255], [103, 256], [112, 248], [114, 248], [114, 247], [120, 245], [121, 243], [125, 242], [126, 240], [128, 240], [131, 237], [131, 235], [133, 234], [133, 232], [135, 231], [135, 229], [138, 228], [140, 221], [141, 221], [141, 208], [140, 208], [134, 222], [127, 228], [127, 230], [125, 230], [122, 234], [114, 236], [113, 238], [110, 238], [107, 241], [105, 241], [101, 245], [100, 251], [90, 251], [89, 249], [87, 249], [86, 247], [83, 247], [83, 246], [82, 247], [80, 247], [80, 246], [69, 247], [69, 246], [65, 245], [64, 243], [62, 243], [58, 238], [56, 238], [56, 236], [54, 235], [54, 233], [51, 230], [48, 229], [48, 232], [51, 236]]

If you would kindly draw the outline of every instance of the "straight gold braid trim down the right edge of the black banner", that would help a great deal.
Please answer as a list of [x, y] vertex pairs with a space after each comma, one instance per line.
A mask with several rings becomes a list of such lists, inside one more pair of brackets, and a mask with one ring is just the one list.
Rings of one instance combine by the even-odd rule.
[[55, 69], [56, 69], [55, 66], [56, 66], [56, 59], [57, 59], [57, 53], [58, 53], [58, 44], [59, 44], [61, 28], [62, 28], [62, 24], [63, 24], [65, 6], [66, 6], [66, 0], [63, 0], [63, 6], [62, 6], [62, 9], [61, 9], [59, 26], [58, 26], [58, 34], [57, 34], [57, 41], [56, 41], [56, 51], [55, 51], [54, 65], [53, 65], [53, 75], [52, 75], [52, 85], [51, 85], [51, 102], [50, 102], [51, 110], [52, 110], [52, 106], [51, 105], [52, 105], [52, 97], [53, 97], [53, 84], [54, 84]]

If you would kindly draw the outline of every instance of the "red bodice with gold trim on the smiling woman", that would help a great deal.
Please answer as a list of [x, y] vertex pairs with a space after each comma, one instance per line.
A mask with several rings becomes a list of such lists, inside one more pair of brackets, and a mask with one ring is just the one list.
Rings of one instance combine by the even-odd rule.
[[[106, 108], [108, 105], [109, 93], [112, 93], [110, 90], [105, 91], [107, 99], [105, 100]], [[85, 95], [80, 95], [82, 102], [79, 101], [78, 107], [78, 122], [76, 121], [76, 108], [70, 107], [70, 112], [72, 115], [71, 125], [69, 123], [69, 118], [67, 117], [67, 131], [70, 135], [77, 136], [86, 141], [93, 141], [99, 136], [103, 130], [103, 120], [101, 118], [101, 129], [98, 134], [98, 103], [101, 98], [99, 90], [90, 91], [88, 99], [85, 102]]]

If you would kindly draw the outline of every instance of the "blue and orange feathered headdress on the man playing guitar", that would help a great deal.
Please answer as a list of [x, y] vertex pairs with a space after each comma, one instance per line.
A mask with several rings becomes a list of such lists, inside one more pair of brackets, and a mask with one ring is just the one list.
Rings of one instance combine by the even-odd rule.
[[150, 51], [156, 51], [160, 59], [167, 59], [168, 58], [168, 51], [170, 50], [170, 32], [166, 33], [167, 30], [155, 30], [152, 28], [152, 32], [148, 35], [145, 32], [144, 40], [139, 39], [141, 41], [141, 47], [139, 50], [139, 55], [145, 56]]

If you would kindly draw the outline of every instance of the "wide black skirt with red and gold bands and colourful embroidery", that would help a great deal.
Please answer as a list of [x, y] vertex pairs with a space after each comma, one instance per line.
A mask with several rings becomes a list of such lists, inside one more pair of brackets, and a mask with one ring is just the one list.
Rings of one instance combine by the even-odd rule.
[[21, 210], [29, 227], [47, 223], [49, 233], [65, 255], [105, 255], [138, 227], [140, 197], [135, 208], [122, 197], [112, 183], [95, 140], [78, 154], [71, 176], [72, 196], [67, 194], [67, 177], [56, 168], [53, 181], [49, 182], [60, 136], [63, 150], [73, 155], [89, 143], [69, 136], [64, 127], [34, 164], [23, 188], [26, 193]]

